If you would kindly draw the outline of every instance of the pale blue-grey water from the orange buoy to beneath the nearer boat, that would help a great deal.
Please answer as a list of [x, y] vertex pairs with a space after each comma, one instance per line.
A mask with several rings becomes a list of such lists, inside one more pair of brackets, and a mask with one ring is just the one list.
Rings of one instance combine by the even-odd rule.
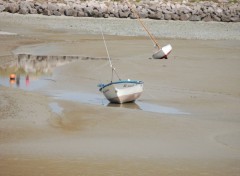
[[[155, 112], [155, 113], [165, 113], [165, 114], [188, 114], [182, 112], [176, 108], [167, 107], [167, 106], [159, 106], [155, 104], [151, 104], [148, 102], [143, 102], [137, 100], [134, 103], [125, 103], [125, 104], [113, 104], [109, 103], [109, 101], [100, 93], [94, 94], [89, 92], [73, 92], [68, 90], [45, 90], [44, 87], [47, 86], [49, 81], [54, 81], [51, 76], [39, 76], [34, 77], [32, 80], [31, 77], [28, 77], [28, 81], [25, 75], [20, 75], [19, 80], [10, 80], [9, 77], [0, 75], [0, 85], [12, 88], [19, 88], [27, 91], [38, 91], [41, 89], [42, 92], [45, 92], [48, 96], [54, 97], [59, 100], [67, 100], [74, 101], [92, 105], [101, 105], [111, 108], [128, 108], [128, 109], [137, 109], [143, 110], [147, 112]], [[50, 103], [49, 105], [53, 112], [57, 114], [62, 113], [62, 107], [60, 107], [57, 103]]]

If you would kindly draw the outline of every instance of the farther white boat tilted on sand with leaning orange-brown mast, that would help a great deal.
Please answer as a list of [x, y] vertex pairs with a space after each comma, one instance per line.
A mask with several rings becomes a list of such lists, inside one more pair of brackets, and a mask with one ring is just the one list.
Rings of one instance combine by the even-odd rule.
[[136, 12], [135, 9], [132, 8], [131, 4], [128, 2], [128, 0], [126, 0], [126, 3], [128, 4], [129, 8], [131, 9], [131, 11], [133, 12], [133, 14], [136, 16], [137, 20], [139, 21], [139, 23], [142, 25], [143, 29], [147, 32], [149, 38], [152, 40], [154, 47], [156, 47], [157, 51], [152, 55], [153, 59], [167, 59], [168, 55], [170, 54], [170, 52], [172, 51], [172, 46], [170, 44], [161, 47], [157, 40], [154, 38], [154, 36], [149, 32], [149, 30], [147, 29], [146, 25], [144, 24], [144, 22], [140, 19], [140, 16], [138, 15], [138, 13]]

